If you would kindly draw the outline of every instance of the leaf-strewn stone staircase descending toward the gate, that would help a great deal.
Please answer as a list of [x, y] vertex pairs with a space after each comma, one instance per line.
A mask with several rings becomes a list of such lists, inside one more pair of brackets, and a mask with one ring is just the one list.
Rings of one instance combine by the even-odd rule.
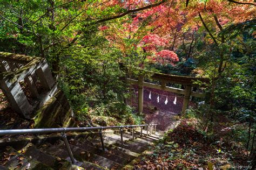
[[7, 146], [0, 148], [2, 165], [0, 169], [133, 169], [132, 162], [160, 138], [140, 129], [123, 131], [123, 144], [119, 131], [104, 131], [105, 151], [102, 150], [98, 133], [68, 136], [70, 148], [76, 159], [71, 164], [64, 141], [60, 138], [28, 142], [21, 150]]

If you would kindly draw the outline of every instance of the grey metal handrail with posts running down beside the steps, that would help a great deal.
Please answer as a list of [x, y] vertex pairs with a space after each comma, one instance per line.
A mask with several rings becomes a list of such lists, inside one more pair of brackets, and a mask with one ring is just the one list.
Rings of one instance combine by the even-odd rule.
[[[157, 124], [144, 124], [144, 125], [125, 125], [125, 126], [98, 126], [98, 127], [84, 127], [84, 128], [44, 128], [44, 129], [8, 129], [8, 130], [0, 130], [0, 136], [4, 136], [6, 134], [26, 134], [26, 133], [61, 133], [66, 148], [69, 152], [70, 159], [72, 164], [76, 163], [75, 158], [73, 157], [71, 148], [69, 146], [69, 141], [66, 138], [66, 132], [78, 132], [78, 131], [89, 131], [89, 130], [99, 130], [100, 142], [102, 143], [102, 150], [105, 151], [102, 130], [104, 129], [120, 129], [120, 137], [121, 143], [123, 142], [123, 128], [132, 128], [132, 140], [134, 140], [134, 128], [140, 127], [140, 136], [142, 136], [143, 127], [146, 127], [146, 135], [148, 135], [148, 128], [149, 126], [154, 126], [154, 133], [156, 133], [156, 126]], [[153, 133], [153, 129], [152, 129]], [[48, 137], [46, 137], [48, 138]]]

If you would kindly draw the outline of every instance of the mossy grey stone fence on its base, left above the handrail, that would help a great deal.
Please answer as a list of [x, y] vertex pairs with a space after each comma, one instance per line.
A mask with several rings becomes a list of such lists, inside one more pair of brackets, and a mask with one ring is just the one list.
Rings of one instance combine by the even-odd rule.
[[[24, 82], [31, 98], [24, 93]], [[40, 89], [38, 89], [38, 85]], [[43, 58], [0, 52], [0, 87], [12, 110], [37, 128], [73, 126], [73, 111]]]

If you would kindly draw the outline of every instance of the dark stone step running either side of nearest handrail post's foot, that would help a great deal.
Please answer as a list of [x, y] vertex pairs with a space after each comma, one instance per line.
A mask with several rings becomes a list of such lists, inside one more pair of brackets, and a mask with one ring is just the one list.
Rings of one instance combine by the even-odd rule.
[[[58, 158], [70, 161], [69, 153], [66, 149], [64, 150], [63, 148], [51, 145], [49, 143], [47, 143], [46, 145], [48, 145], [48, 146], [43, 147], [43, 148], [41, 147], [41, 150], [43, 150], [43, 152], [45, 152], [46, 154], [52, 155], [56, 159], [58, 157]], [[76, 162], [76, 165], [79, 165], [80, 167], [83, 167], [85, 169], [106, 169], [97, 164], [93, 164], [92, 162], [83, 160], [80, 157], [77, 157], [77, 155], [74, 155], [74, 157], [78, 161], [78, 162]]]

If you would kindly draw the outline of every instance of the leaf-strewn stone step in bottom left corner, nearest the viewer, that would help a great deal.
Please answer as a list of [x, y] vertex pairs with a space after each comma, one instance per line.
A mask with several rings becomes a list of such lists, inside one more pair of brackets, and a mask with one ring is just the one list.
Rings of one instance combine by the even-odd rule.
[[3, 153], [3, 156], [7, 157], [9, 160], [3, 165], [5, 169], [52, 169], [48, 165], [42, 164], [42, 162], [27, 157], [25, 154], [23, 154], [23, 150], [16, 151], [12, 147], [6, 147], [6, 149], [7, 150]]

